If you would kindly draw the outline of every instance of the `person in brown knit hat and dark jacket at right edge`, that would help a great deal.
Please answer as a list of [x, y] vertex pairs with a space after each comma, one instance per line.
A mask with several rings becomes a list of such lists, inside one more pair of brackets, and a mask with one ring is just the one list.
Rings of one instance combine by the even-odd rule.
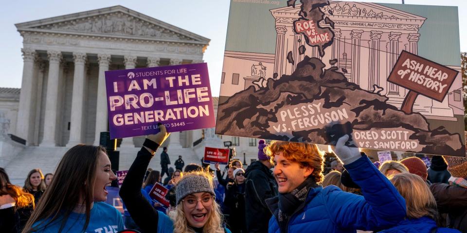
[[448, 214], [448, 227], [467, 233], [467, 158], [444, 156], [452, 177], [433, 183], [430, 190], [440, 213]]

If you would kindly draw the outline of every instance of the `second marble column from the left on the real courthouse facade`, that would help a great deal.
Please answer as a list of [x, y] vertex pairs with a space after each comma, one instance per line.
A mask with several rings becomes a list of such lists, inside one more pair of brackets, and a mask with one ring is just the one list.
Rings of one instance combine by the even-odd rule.
[[47, 94], [45, 98], [44, 136], [39, 146], [54, 147], [56, 144], [57, 105], [58, 105], [58, 77], [60, 72], [60, 51], [47, 51], [49, 58], [49, 77], [47, 80]]

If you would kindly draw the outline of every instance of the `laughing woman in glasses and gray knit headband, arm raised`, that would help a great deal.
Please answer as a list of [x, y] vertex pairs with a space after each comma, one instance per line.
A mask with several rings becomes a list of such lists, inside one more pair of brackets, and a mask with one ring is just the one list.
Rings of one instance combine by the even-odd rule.
[[176, 183], [177, 206], [170, 218], [153, 206], [141, 193], [144, 173], [156, 150], [165, 141], [164, 125], [161, 132], [147, 135], [120, 189], [120, 197], [142, 233], [231, 233], [222, 227], [222, 215], [214, 193], [213, 177], [198, 170], [183, 174]]

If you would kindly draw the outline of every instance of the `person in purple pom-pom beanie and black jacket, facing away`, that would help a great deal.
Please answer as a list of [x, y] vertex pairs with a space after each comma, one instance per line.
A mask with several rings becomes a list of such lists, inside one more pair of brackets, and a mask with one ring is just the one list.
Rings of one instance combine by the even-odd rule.
[[265, 200], [277, 196], [277, 183], [272, 176], [272, 164], [264, 153], [266, 143], [259, 140], [258, 160], [245, 171], [245, 218], [249, 233], [267, 233], [272, 216]]

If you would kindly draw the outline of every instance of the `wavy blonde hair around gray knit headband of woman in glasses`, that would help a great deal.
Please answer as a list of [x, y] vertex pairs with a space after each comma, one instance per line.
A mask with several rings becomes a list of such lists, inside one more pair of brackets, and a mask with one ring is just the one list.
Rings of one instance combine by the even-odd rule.
[[[177, 184], [180, 181], [192, 177], [192, 176], [203, 176], [206, 177], [209, 182], [213, 185], [213, 176], [206, 170], [196, 170], [188, 173], [184, 173], [180, 179], [178, 179]], [[176, 184], [176, 185], [177, 185]], [[183, 211], [183, 203], [180, 203], [175, 207], [175, 214], [169, 214], [174, 222], [174, 233], [195, 233], [195, 231], [188, 227], [188, 221], [186, 220], [185, 212]], [[222, 215], [220, 212], [220, 207], [215, 200], [213, 200], [213, 207], [208, 216], [208, 221], [204, 224], [203, 233], [224, 233], [224, 228], [222, 227]]]

